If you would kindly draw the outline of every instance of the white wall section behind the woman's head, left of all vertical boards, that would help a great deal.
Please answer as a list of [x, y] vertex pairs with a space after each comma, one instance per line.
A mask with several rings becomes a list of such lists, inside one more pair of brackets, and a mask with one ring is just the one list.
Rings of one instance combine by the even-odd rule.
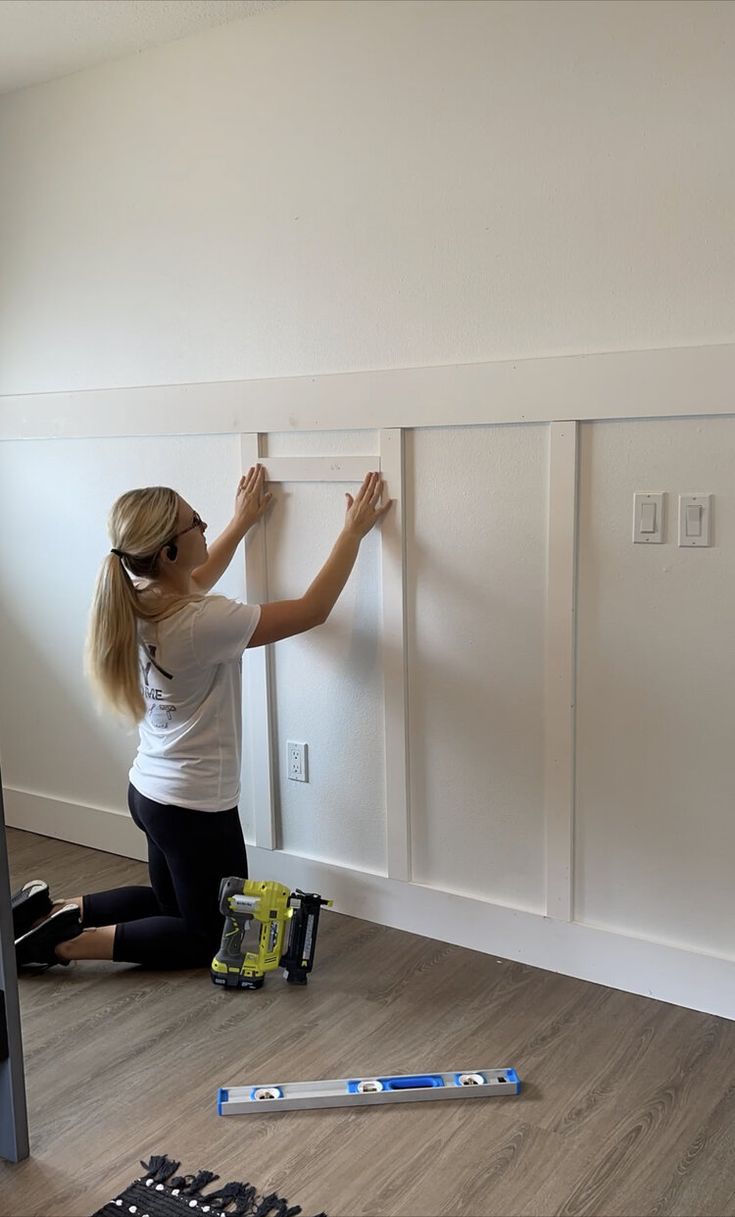
[[[173, 486], [212, 533], [240, 473], [231, 437], [0, 444], [0, 741], [2, 778], [92, 807], [125, 807], [135, 735], [97, 712], [83, 649], [106, 521], [123, 490]], [[242, 570], [219, 590], [241, 594]]]

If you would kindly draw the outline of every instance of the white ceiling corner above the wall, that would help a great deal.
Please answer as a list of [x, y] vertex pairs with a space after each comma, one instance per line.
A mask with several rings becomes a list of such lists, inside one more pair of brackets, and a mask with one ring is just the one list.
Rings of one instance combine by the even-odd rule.
[[0, 94], [257, 17], [287, 0], [0, 0]]

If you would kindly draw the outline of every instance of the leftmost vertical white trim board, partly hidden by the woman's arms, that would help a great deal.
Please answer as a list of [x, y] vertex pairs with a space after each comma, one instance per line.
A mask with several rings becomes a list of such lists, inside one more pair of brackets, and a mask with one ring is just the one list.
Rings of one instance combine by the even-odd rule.
[[[260, 438], [257, 433], [240, 437], [242, 472], [260, 459]], [[268, 561], [265, 523], [259, 521], [245, 542], [245, 600], [265, 604], [268, 600]], [[276, 847], [275, 758], [270, 695], [270, 655], [268, 646], [246, 651], [242, 672], [242, 783], [249, 784], [253, 801], [256, 843], [262, 849]]]

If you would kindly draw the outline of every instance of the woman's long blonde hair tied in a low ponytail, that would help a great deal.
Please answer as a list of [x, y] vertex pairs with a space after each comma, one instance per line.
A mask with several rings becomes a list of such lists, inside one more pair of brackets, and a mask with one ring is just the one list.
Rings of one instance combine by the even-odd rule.
[[155, 583], [139, 588], [131, 574], [155, 579], [161, 550], [172, 544], [179, 495], [167, 486], [128, 490], [107, 523], [113, 550], [105, 557], [86, 635], [86, 671], [102, 699], [134, 722], [145, 714], [140, 688], [139, 621], [161, 621], [198, 595], [165, 596]]

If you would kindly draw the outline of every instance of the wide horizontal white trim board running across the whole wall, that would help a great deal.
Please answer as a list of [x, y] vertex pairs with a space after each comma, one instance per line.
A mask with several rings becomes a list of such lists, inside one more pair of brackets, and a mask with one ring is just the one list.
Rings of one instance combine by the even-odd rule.
[[735, 414], [735, 343], [0, 397], [0, 439]]

